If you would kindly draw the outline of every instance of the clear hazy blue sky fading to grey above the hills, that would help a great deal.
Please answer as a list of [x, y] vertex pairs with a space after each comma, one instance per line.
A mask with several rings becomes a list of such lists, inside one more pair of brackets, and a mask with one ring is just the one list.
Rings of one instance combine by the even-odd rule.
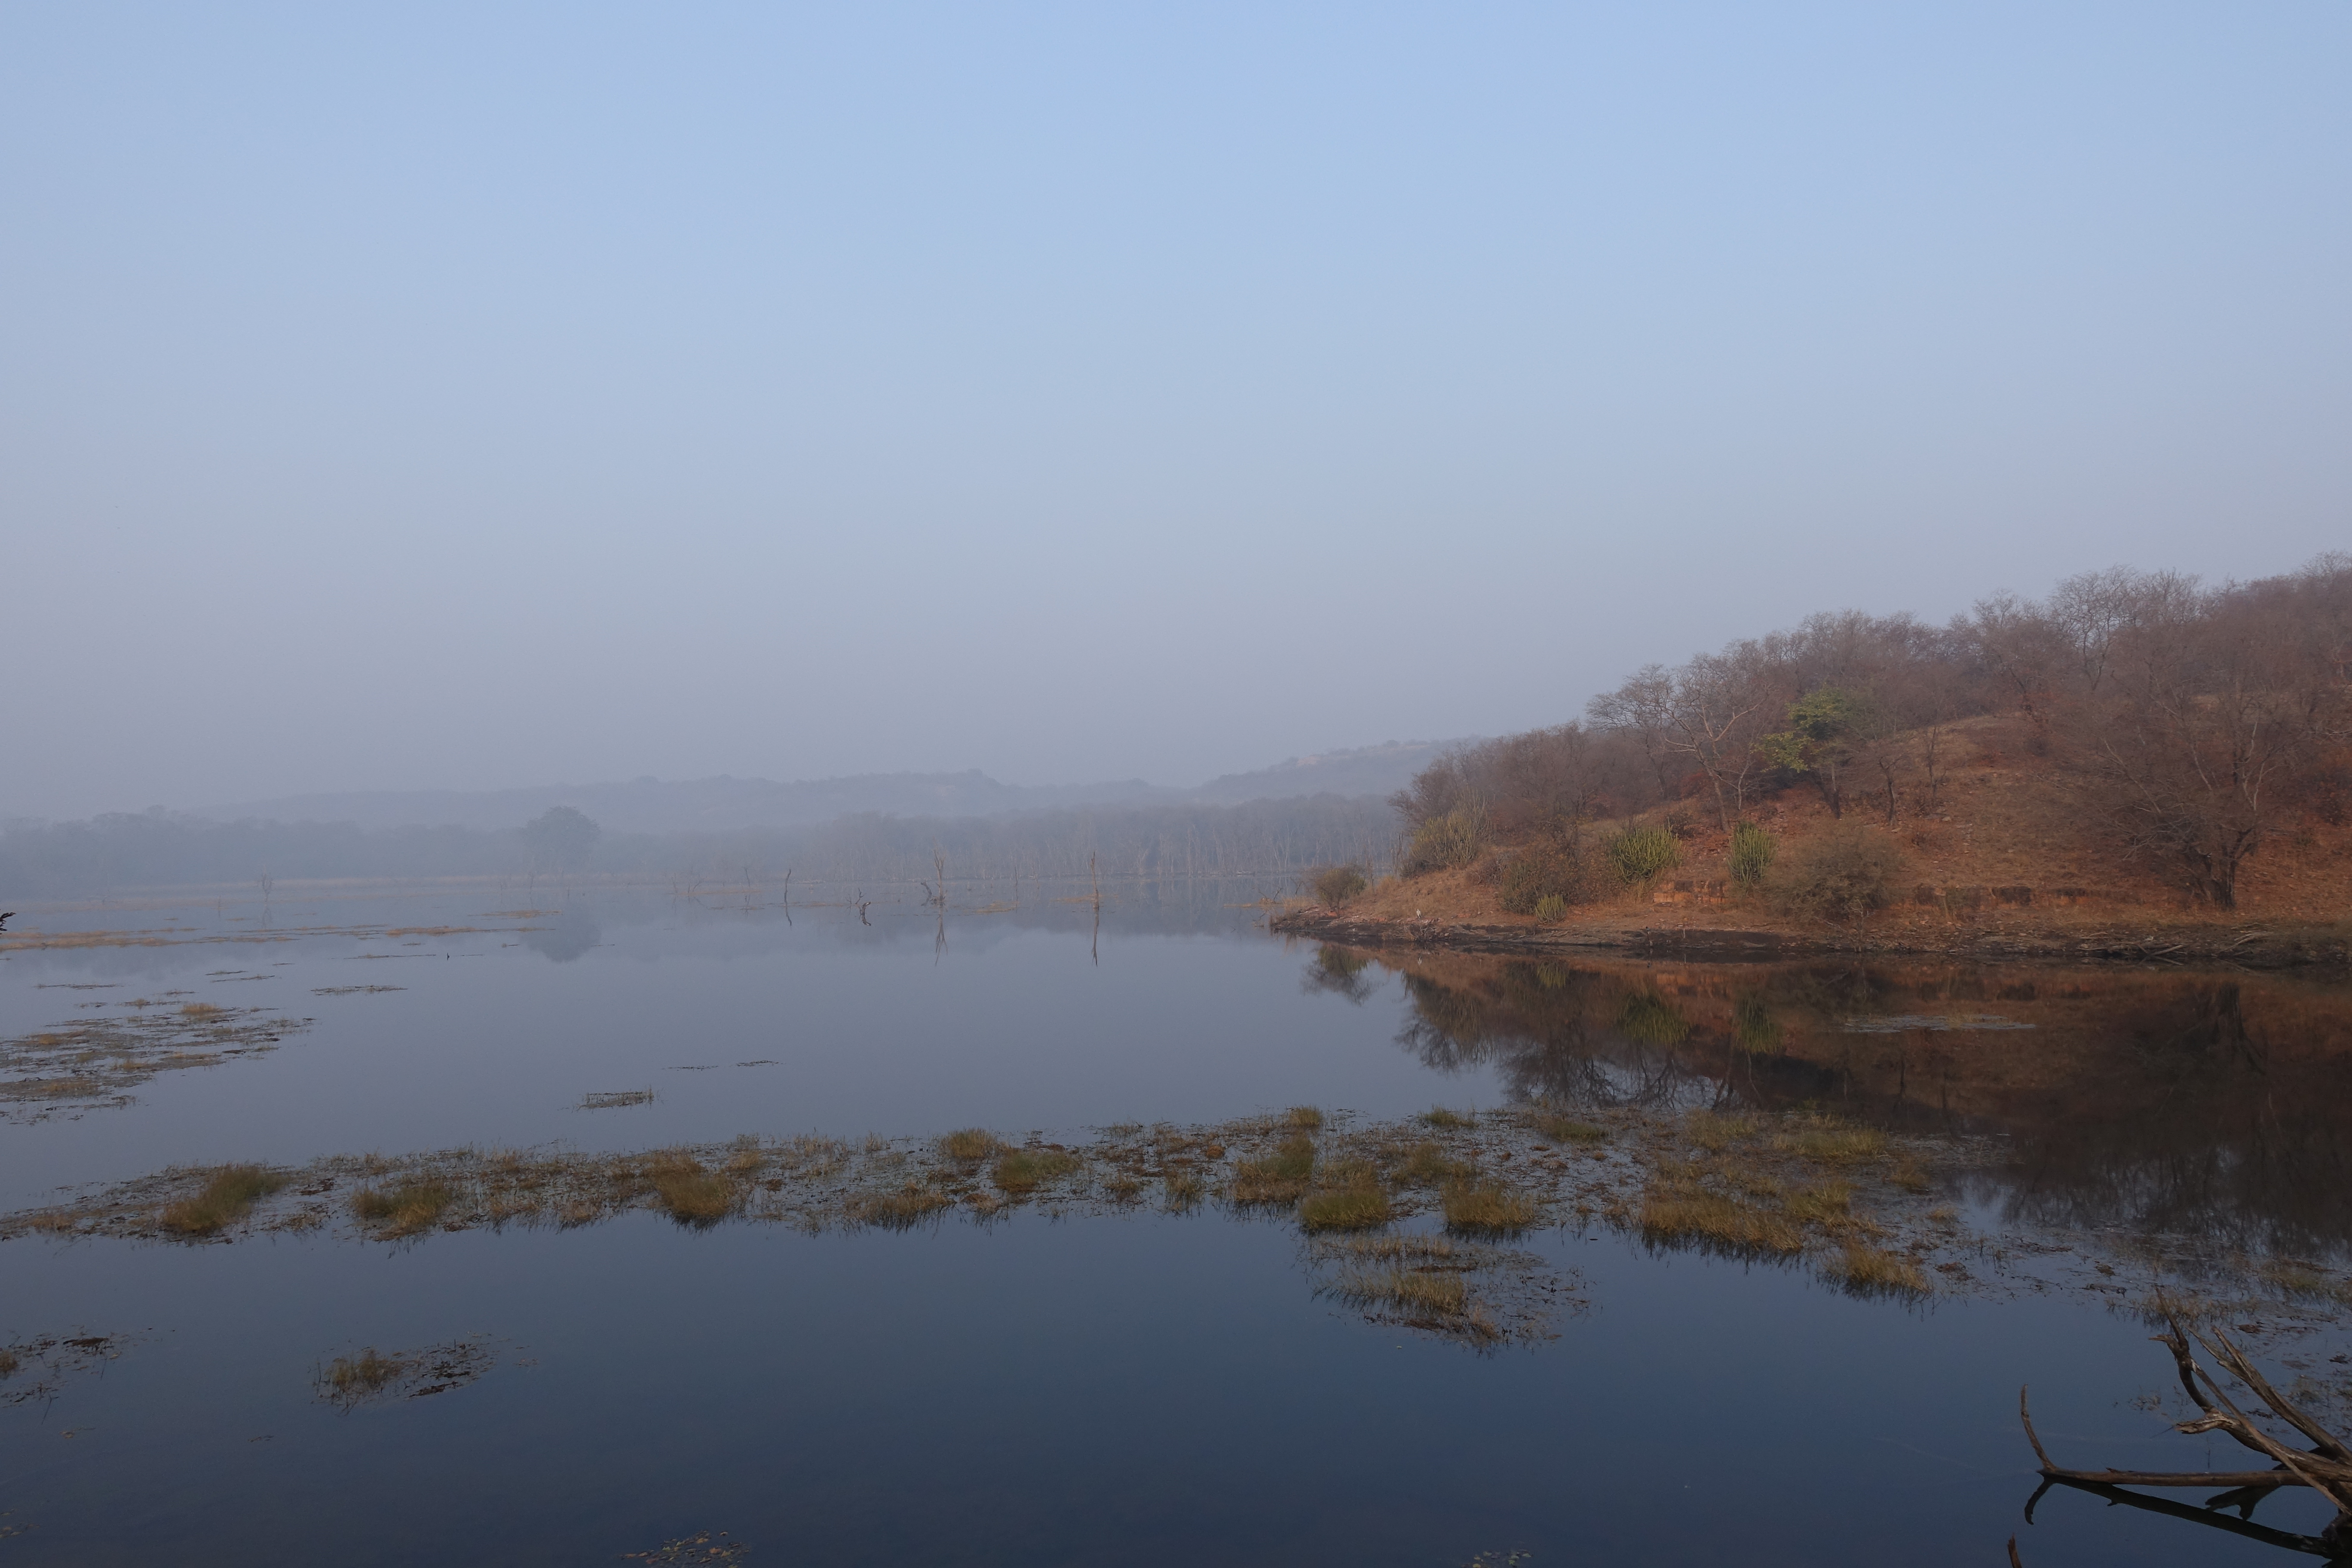
[[0, 816], [1573, 717], [2352, 543], [2352, 7], [0, 5]]

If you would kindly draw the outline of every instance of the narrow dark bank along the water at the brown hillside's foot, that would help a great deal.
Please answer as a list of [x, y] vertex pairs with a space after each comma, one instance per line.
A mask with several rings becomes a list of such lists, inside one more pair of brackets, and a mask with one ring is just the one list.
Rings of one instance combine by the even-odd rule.
[[[2251, 929], [2249, 929], [2251, 926]], [[1804, 957], [1945, 957], [1971, 961], [2072, 959], [2100, 964], [2230, 964], [2237, 969], [2347, 969], [2352, 945], [2336, 926], [2253, 922], [2138, 929], [1955, 929], [1945, 940], [1910, 931], [1785, 931], [1733, 926], [1472, 924], [1449, 919], [1350, 917], [1341, 910], [1291, 910], [1268, 919], [1275, 936], [1303, 936], [1345, 947], [1418, 947], [1508, 957], [1621, 954], [1764, 964]]]

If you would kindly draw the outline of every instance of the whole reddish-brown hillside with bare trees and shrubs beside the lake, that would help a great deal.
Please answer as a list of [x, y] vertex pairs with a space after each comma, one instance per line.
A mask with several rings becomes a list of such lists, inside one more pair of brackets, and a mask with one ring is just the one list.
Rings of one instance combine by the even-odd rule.
[[1399, 875], [1327, 882], [1284, 929], [2343, 959], [2352, 564], [2098, 574], [1950, 628], [1816, 616], [1451, 752], [1397, 806]]

